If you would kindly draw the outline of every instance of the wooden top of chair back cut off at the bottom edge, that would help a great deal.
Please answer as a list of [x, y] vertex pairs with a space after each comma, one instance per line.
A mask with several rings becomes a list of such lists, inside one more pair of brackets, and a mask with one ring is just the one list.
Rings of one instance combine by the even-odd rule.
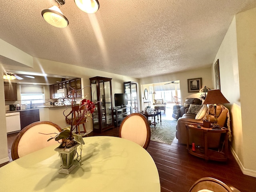
[[233, 186], [228, 186], [215, 178], [204, 177], [197, 180], [189, 192], [240, 192]]

